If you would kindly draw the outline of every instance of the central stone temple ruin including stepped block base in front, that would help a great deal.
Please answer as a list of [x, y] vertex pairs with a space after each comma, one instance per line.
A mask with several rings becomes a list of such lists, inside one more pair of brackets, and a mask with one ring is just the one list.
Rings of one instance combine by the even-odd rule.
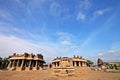
[[52, 61], [53, 74], [56, 76], [73, 76], [74, 67], [86, 66], [86, 60], [79, 56], [73, 58], [57, 57]]

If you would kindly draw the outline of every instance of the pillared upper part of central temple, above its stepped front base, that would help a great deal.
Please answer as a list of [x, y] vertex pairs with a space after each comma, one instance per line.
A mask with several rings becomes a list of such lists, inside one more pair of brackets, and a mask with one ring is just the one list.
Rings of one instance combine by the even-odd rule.
[[[62, 61], [62, 62], [61, 62]], [[60, 65], [62, 64], [62, 65]], [[85, 67], [87, 66], [86, 60], [81, 56], [75, 56], [73, 58], [57, 57], [52, 61], [52, 67]]]

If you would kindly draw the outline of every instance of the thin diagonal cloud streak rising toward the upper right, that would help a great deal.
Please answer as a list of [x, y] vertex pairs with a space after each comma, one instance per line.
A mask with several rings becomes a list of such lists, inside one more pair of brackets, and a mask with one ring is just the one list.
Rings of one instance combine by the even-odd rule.
[[[109, 8], [106, 8], [104, 9], [105, 11], [110, 11], [111, 9]], [[104, 11], [103, 10], [103, 11]], [[110, 29], [111, 27], [110, 26], [107, 26], [108, 24], [110, 24], [113, 20], [114, 20], [114, 17], [115, 17], [115, 14], [117, 12], [115, 12], [113, 15], [111, 15], [107, 20], [106, 22], [103, 23], [103, 25], [101, 25], [100, 27], [98, 27], [97, 29], [95, 29], [94, 31], [92, 31], [88, 37], [83, 41], [83, 43], [80, 45], [82, 49], [84, 49], [85, 47], [87, 47], [98, 35], [100, 35], [102, 32]]]

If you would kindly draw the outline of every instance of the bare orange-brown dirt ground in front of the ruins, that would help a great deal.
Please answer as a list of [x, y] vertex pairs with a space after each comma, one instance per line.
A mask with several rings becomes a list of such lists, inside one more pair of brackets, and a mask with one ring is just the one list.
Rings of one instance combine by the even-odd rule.
[[0, 71], [0, 80], [120, 80], [120, 72], [93, 71], [75, 68], [73, 77], [54, 76], [52, 69], [38, 71]]

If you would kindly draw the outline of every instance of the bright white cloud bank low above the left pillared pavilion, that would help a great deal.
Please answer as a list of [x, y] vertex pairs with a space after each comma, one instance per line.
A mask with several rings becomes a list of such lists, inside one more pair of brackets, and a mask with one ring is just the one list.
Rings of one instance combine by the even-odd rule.
[[[53, 59], [55, 56], [59, 56], [58, 52], [62, 48], [59, 49], [57, 44], [47, 42], [47, 44], [40, 43], [31, 43], [29, 40], [21, 39], [16, 36], [10, 35], [5, 36], [0, 34], [0, 56], [7, 57], [8, 55], [12, 55], [13, 53], [42, 53], [45, 59]], [[62, 50], [63, 51], [63, 50]], [[49, 56], [50, 54], [51, 56]], [[49, 61], [46, 60], [46, 61]]]

